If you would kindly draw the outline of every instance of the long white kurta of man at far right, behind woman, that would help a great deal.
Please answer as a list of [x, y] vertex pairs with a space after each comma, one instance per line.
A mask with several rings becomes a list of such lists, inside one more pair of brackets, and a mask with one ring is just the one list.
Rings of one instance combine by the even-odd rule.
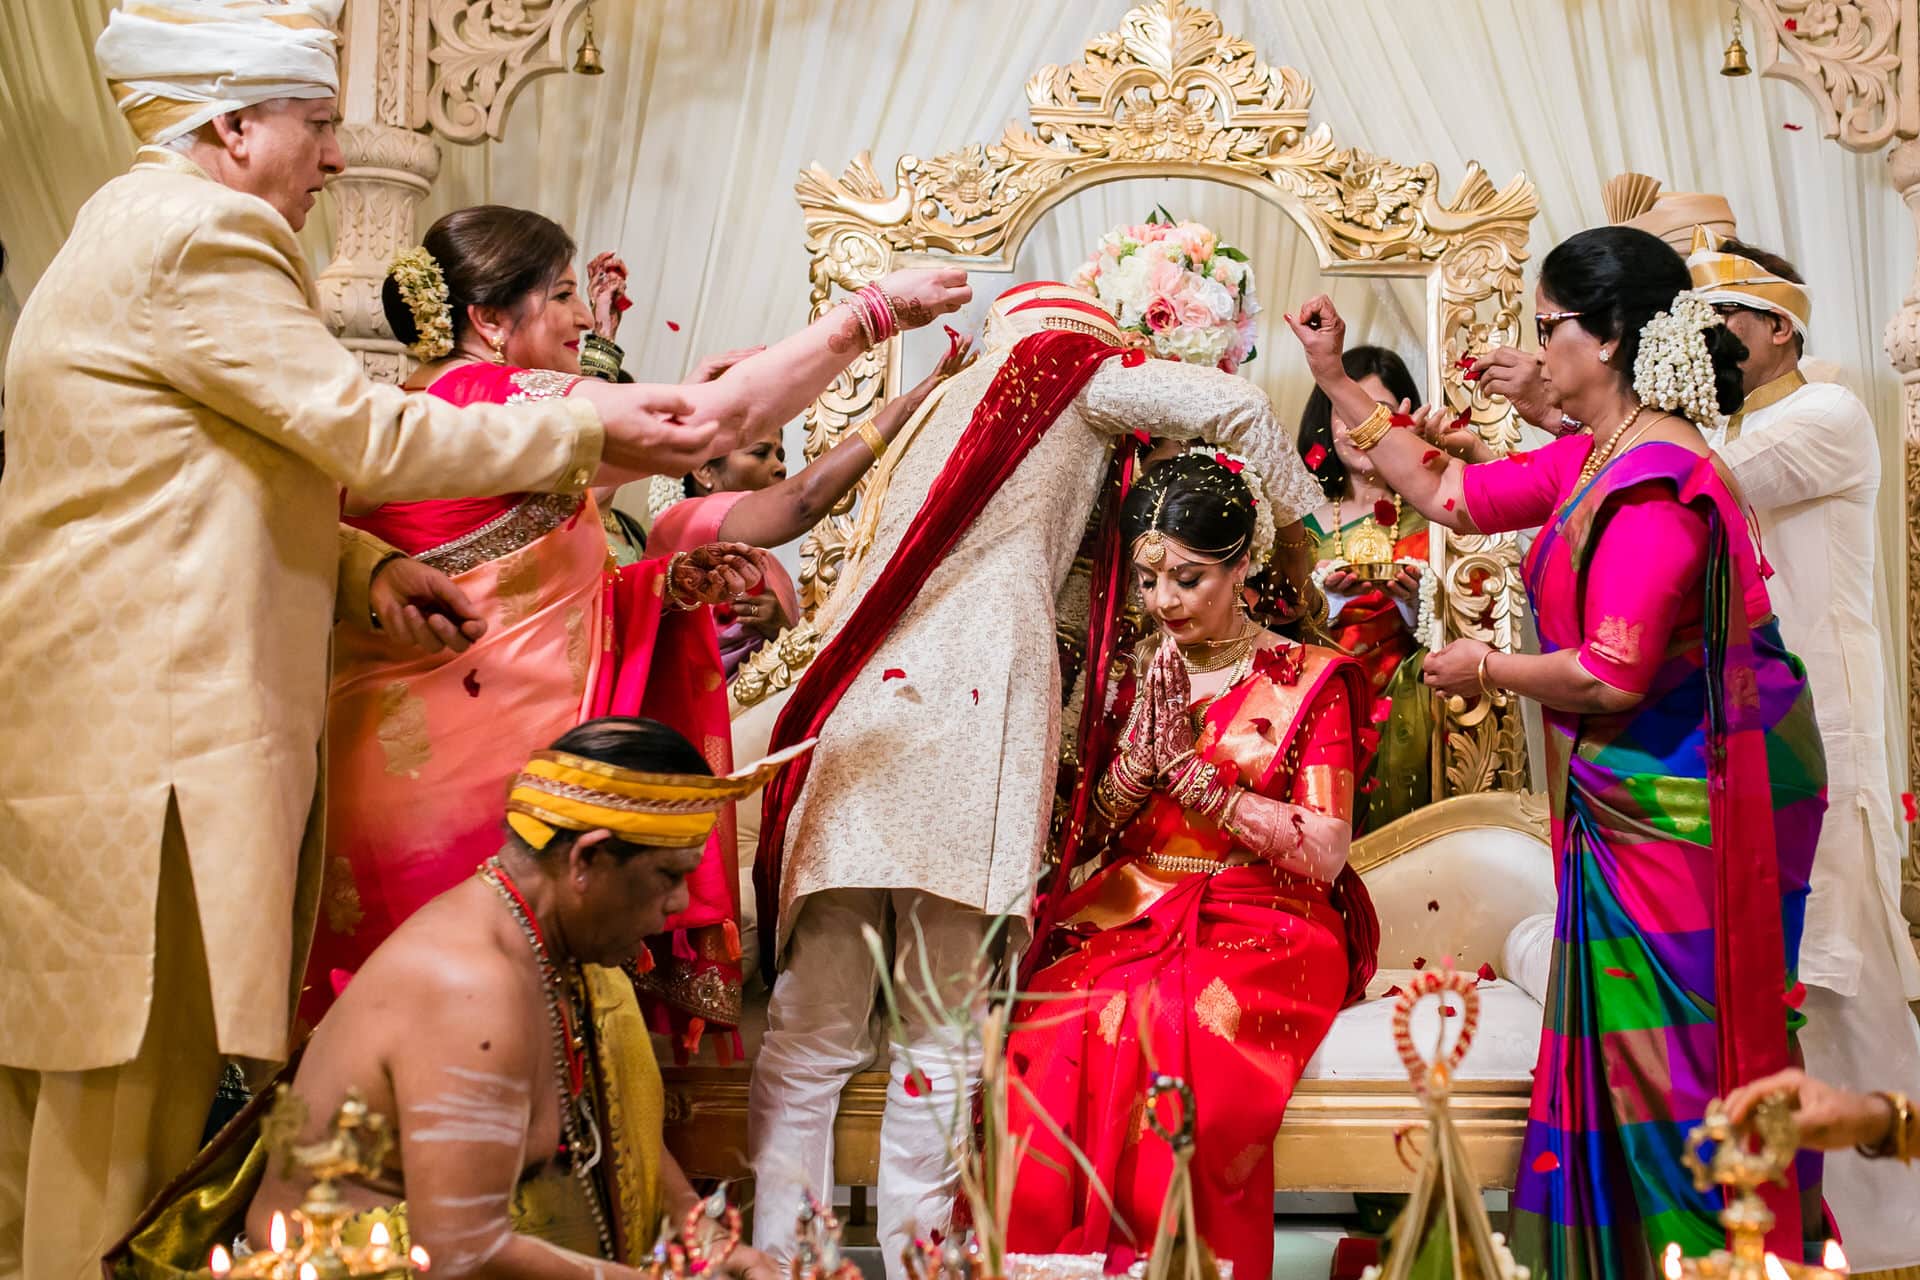
[[[1874, 631], [1874, 424], [1814, 382], [1741, 415], [1716, 449], [1761, 522], [1780, 631], [1807, 664], [1828, 802], [1801, 940], [1807, 1069], [1855, 1090], [1920, 1096], [1920, 963], [1899, 910], [1901, 827], [1887, 773], [1885, 672]], [[1855, 1270], [1920, 1265], [1920, 1167], [1826, 1157], [1826, 1199]]]

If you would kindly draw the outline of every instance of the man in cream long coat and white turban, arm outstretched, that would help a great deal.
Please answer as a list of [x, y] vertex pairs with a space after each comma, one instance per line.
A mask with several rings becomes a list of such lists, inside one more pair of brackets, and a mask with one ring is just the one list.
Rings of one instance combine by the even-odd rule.
[[732, 447], [599, 384], [455, 409], [367, 378], [315, 313], [294, 240], [342, 163], [338, 10], [113, 13], [98, 56], [148, 146], [81, 209], [13, 334], [0, 1276], [98, 1276], [194, 1155], [223, 1055], [286, 1054], [319, 885], [330, 624], [369, 618], [372, 593], [388, 626], [424, 628], [401, 595], [428, 570], [378, 545], [342, 555], [340, 486], [578, 491]]

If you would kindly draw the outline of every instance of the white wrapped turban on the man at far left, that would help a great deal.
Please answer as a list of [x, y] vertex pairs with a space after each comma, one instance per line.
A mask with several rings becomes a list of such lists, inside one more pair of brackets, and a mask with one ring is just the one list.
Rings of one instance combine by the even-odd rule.
[[344, 2], [125, 0], [94, 58], [140, 142], [171, 142], [259, 102], [338, 94]]

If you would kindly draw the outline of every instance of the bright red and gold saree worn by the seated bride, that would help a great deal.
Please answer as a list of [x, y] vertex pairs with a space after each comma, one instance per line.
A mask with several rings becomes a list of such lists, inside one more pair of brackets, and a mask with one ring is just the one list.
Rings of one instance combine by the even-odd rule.
[[[1263, 796], [1346, 819], [1365, 704], [1352, 660], [1267, 651], [1206, 706], [1198, 750]], [[1217, 825], [1154, 794], [1121, 829], [1114, 862], [1066, 894], [1039, 940], [1044, 967], [1023, 986], [1008, 1038], [1008, 1130], [1033, 1142], [1012, 1249], [1152, 1242], [1171, 1153], [1146, 1126], [1146, 1088], [1169, 1073], [1196, 1100], [1200, 1234], [1235, 1274], [1271, 1270], [1273, 1138], [1334, 1013], [1373, 975], [1379, 923], [1352, 869], [1329, 887], [1267, 862], [1152, 865], [1156, 854], [1219, 862], [1233, 848]], [[1119, 1221], [1035, 1103], [1085, 1153]], [[1167, 1109], [1162, 1121], [1175, 1119]]]

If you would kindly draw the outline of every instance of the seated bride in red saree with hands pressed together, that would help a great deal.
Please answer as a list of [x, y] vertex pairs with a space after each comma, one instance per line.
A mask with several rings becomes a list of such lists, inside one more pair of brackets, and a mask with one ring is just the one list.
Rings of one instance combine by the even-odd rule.
[[[1346, 865], [1367, 681], [1240, 608], [1246, 486], [1188, 453], [1127, 495], [1121, 535], [1158, 652], [1119, 695], [1098, 779], [1104, 869], [1060, 892], [1008, 1038], [1008, 1132], [1031, 1138], [1010, 1245], [1146, 1249], [1171, 1174], [1146, 1126], [1156, 1073], [1196, 1098], [1198, 1228], [1240, 1276], [1273, 1263], [1273, 1138], [1334, 1013], [1365, 990], [1379, 927]], [[1173, 1102], [1160, 1103], [1177, 1123]], [[1094, 1178], [1060, 1134], [1083, 1153]]]

